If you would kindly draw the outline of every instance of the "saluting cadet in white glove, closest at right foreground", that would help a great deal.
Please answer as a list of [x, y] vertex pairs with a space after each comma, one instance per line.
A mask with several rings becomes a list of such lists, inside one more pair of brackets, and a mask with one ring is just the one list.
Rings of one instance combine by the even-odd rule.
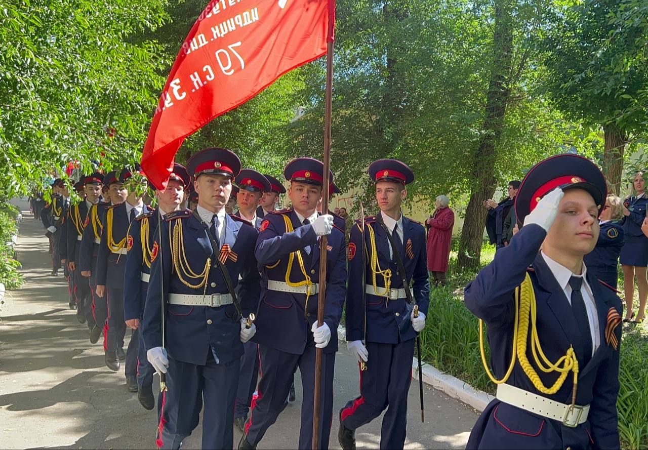
[[[578, 155], [529, 170], [515, 210], [524, 227], [465, 288], [485, 322], [496, 399], [468, 449], [618, 449], [621, 300], [583, 264], [607, 186]], [[483, 339], [483, 338], [482, 338]], [[481, 339], [480, 339], [481, 340]]]

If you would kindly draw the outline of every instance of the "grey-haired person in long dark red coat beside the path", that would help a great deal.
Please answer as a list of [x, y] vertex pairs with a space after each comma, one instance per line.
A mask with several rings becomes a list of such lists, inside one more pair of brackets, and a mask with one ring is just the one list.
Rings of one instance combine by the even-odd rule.
[[454, 212], [448, 208], [448, 203], [448, 197], [438, 196], [434, 203], [434, 213], [425, 221], [428, 229], [428, 271], [437, 285], [445, 284], [450, 258]]

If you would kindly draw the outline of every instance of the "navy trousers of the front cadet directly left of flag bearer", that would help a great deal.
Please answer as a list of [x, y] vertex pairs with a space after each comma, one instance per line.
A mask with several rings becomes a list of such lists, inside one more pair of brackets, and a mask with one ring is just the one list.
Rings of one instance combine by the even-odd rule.
[[207, 365], [197, 366], [169, 357], [165, 398], [161, 407], [162, 449], [178, 449], [182, 440], [198, 425], [202, 399], [203, 449], [234, 447], [234, 399], [238, 384], [240, 359], [216, 364], [213, 357]]

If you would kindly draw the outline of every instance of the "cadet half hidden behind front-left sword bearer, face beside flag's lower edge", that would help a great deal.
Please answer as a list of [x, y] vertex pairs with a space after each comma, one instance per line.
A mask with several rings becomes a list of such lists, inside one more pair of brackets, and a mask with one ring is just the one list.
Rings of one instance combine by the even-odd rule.
[[[155, 370], [146, 359], [142, 327], [146, 292], [150, 277], [151, 254], [154, 248], [159, 216], [181, 209], [185, 189], [189, 188], [190, 177], [181, 164], [174, 164], [165, 190], [156, 190], [157, 208], [141, 214], [130, 223], [126, 239], [126, 267], [124, 272], [124, 320], [126, 326], [137, 331], [137, 398], [145, 409], [155, 406], [153, 396], [153, 374]], [[129, 345], [130, 348], [130, 345]]]

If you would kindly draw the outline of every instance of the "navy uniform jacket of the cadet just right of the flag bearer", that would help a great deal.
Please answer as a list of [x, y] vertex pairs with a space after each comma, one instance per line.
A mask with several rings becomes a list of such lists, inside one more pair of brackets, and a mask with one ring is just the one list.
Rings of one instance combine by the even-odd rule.
[[[403, 248], [400, 253], [403, 265], [405, 266], [408, 282], [411, 283], [415, 302], [419, 305], [419, 311], [428, 314], [430, 304], [430, 278], [427, 268], [427, 253], [425, 245], [424, 227], [411, 219], [403, 216]], [[364, 339], [364, 311], [362, 309], [362, 271], [366, 271], [366, 284], [373, 284], [373, 275], [369, 262], [371, 261], [372, 249], [369, 240], [371, 227], [375, 234], [376, 251], [380, 269], [391, 270], [391, 289], [403, 287], [402, 276], [395, 258], [389, 258], [389, 240], [384, 229], [375, 216], [365, 218], [365, 242], [367, 245], [367, 265], [362, 267], [362, 234], [360, 233], [359, 221], [351, 228], [349, 238], [349, 286], [347, 295], [346, 327], [347, 341], [360, 341]], [[411, 248], [408, 242], [411, 241]], [[408, 251], [410, 249], [411, 251]], [[384, 292], [384, 278], [376, 275], [378, 292]], [[382, 287], [382, 288], [381, 288]], [[373, 291], [372, 291], [373, 292]], [[411, 326], [411, 311], [413, 305], [408, 304], [406, 298], [386, 301], [386, 297], [378, 297], [373, 293], [367, 293], [367, 342], [397, 344], [409, 341], [416, 337]]]

